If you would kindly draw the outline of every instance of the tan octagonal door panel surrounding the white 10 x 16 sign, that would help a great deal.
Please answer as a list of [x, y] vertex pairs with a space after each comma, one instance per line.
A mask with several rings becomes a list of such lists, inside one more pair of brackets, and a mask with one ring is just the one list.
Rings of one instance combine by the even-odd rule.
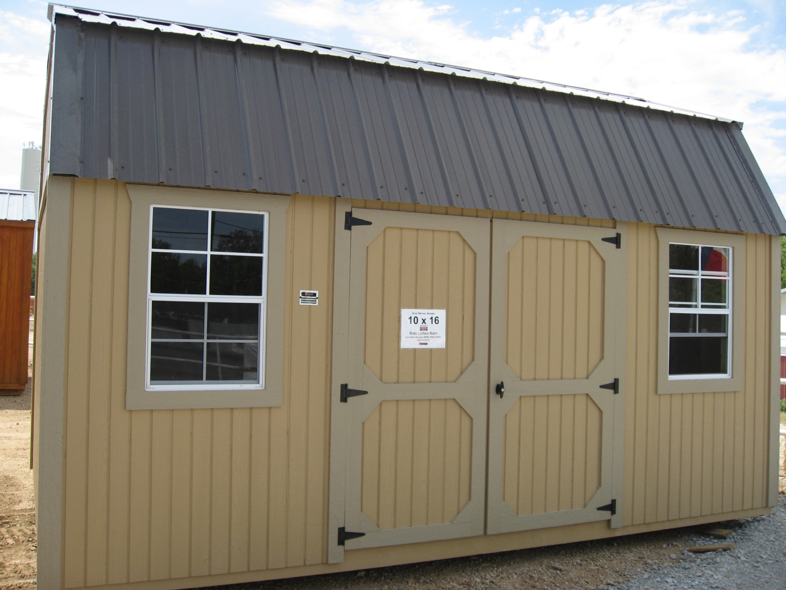
[[[369, 245], [365, 365], [381, 382], [461, 376], [475, 351], [475, 273], [476, 254], [456, 231], [387, 227]], [[400, 348], [402, 308], [445, 309], [446, 348]]]

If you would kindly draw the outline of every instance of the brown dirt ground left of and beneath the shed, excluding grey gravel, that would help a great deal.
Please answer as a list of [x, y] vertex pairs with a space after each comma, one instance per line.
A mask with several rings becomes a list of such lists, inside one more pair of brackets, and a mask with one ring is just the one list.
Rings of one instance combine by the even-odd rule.
[[[29, 469], [30, 407], [30, 385], [20, 396], [0, 395], [0, 588], [4, 589], [35, 588], [35, 511]], [[786, 437], [781, 437], [780, 441], [780, 491], [786, 492]], [[740, 521], [732, 521], [721, 526], [736, 529], [740, 524]], [[685, 548], [695, 544], [696, 537], [701, 537], [707, 528], [685, 527], [617, 539], [221, 588], [614, 588], [624, 586], [655, 566], [667, 570], [677, 566]], [[707, 537], [706, 542], [709, 544], [713, 540]]]

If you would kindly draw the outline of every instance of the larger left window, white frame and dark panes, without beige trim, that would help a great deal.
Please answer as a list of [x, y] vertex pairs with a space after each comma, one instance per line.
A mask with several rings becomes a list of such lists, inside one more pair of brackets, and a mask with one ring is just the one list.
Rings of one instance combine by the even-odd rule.
[[147, 385], [261, 388], [267, 215], [153, 206]]

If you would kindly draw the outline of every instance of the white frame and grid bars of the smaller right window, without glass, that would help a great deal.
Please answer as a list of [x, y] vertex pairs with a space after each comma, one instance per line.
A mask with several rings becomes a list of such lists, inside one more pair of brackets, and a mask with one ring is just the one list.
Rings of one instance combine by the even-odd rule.
[[[702, 236], [704, 237], [704, 236]], [[709, 238], [710, 236], [706, 236]], [[671, 316], [674, 314], [684, 314], [684, 315], [726, 315], [728, 319], [726, 320], [726, 367], [727, 371], [725, 373], [692, 373], [692, 374], [671, 374], [669, 373], [670, 380], [680, 380], [680, 379], [728, 379], [732, 376], [731, 374], [731, 367], [733, 361], [733, 350], [732, 350], [732, 342], [733, 342], [733, 299], [734, 293], [732, 289], [733, 285], [733, 276], [734, 276], [734, 251], [730, 249], [728, 246], [722, 246], [718, 244], [712, 243], [699, 243], [699, 242], [669, 242], [669, 250], [671, 249], [672, 245], [690, 245], [696, 246], [699, 248], [699, 262], [701, 264], [701, 249], [702, 248], [723, 248], [727, 249], [728, 254], [728, 264], [729, 264], [729, 271], [726, 273], [719, 273], [714, 271], [696, 271], [694, 274], [692, 271], [678, 271], [671, 268], [669, 264], [669, 280], [671, 278], [692, 278], [696, 277], [696, 307], [688, 307], [689, 301], [669, 301], [669, 348], [671, 347], [671, 338], [676, 336], [679, 337], [678, 334], [681, 333], [673, 333], [670, 331], [671, 328]], [[703, 278], [728, 278], [728, 283], [726, 286], [726, 303], [725, 307], [721, 307], [722, 304], [709, 304], [713, 307], [711, 308], [704, 308], [703, 305], [707, 305], [702, 303], [701, 301], [701, 289], [702, 289], [702, 279]], [[669, 296], [669, 299], [671, 297]], [[685, 304], [683, 307], [672, 307], [674, 303], [681, 303]], [[674, 334], [674, 336], [673, 336]], [[684, 337], [684, 336], [683, 336]]]

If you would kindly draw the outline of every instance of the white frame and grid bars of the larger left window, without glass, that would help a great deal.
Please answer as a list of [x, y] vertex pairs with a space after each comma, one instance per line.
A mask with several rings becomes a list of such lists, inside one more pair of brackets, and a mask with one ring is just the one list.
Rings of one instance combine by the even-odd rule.
[[[149, 227], [148, 232], [149, 236], [152, 236], [152, 216], [153, 216], [153, 209], [154, 208], [171, 208], [171, 209], [192, 209], [196, 211], [207, 211], [208, 212], [208, 246], [207, 249], [202, 250], [182, 250], [182, 249], [160, 249], [160, 248], [153, 248], [152, 241], [149, 242], [148, 246], [148, 275], [147, 275], [147, 292], [148, 292], [148, 304], [147, 304], [147, 322], [145, 324], [147, 328], [146, 333], [146, 349], [145, 349], [145, 389], [148, 391], [190, 391], [190, 390], [204, 390], [204, 391], [211, 391], [211, 390], [220, 390], [220, 389], [265, 389], [265, 328], [267, 326], [266, 322], [266, 293], [267, 293], [267, 253], [268, 253], [268, 233], [270, 231], [270, 212], [269, 211], [249, 211], [248, 209], [227, 209], [227, 208], [205, 208], [205, 207], [185, 207], [185, 206], [176, 206], [176, 205], [159, 205], [159, 204], [152, 204], [150, 205], [150, 214], [149, 214]], [[240, 253], [240, 252], [217, 252], [220, 256], [258, 256], [262, 258], [263, 265], [262, 265], [262, 294], [260, 297], [253, 297], [248, 295], [236, 295], [236, 296], [226, 296], [226, 295], [211, 295], [206, 293], [204, 295], [184, 295], [178, 293], [152, 293], [150, 290], [150, 277], [151, 277], [151, 270], [152, 270], [152, 253], [153, 252], [163, 252], [163, 253], [170, 253], [170, 254], [193, 254], [193, 253], [205, 253], [207, 255], [207, 270], [205, 274], [205, 290], [209, 292], [210, 290], [210, 261], [211, 261], [211, 253], [213, 250], [211, 249], [211, 216], [214, 211], [218, 212], [230, 212], [230, 213], [252, 213], [257, 215], [265, 216], [265, 226], [264, 226], [264, 235], [263, 235], [263, 249], [261, 254], [254, 254], [254, 253]], [[150, 381], [150, 346], [152, 344], [152, 337], [150, 331], [152, 330], [152, 302], [153, 301], [199, 301], [204, 303], [256, 303], [259, 304], [259, 325], [257, 329], [259, 330], [259, 352], [258, 352], [258, 382], [257, 383], [237, 383], [237, 382], [223, 382], [223, 383], [216, 383], [216, 382], [208, 382], [204, 384], [196, 384], [193, 382], [189, 382], [187, 384], [179, 384], [179, 383], [171, 383], [171, 384], [163, 384], [163, 383], [151, 383]], [[205, 315], [204, 318], [204, 326], [205, 330], [208, 329], [208, 317]], [[193, 342], [198, 342], [199, 340], [194, 339]], [[244, 343], [248, 341], [243, 341]], [[203, 367], [202, 371], [207, 369], [207, 343], [208, 341], [205, 340], [205, 346], [202, 352], [202, 362]]]

